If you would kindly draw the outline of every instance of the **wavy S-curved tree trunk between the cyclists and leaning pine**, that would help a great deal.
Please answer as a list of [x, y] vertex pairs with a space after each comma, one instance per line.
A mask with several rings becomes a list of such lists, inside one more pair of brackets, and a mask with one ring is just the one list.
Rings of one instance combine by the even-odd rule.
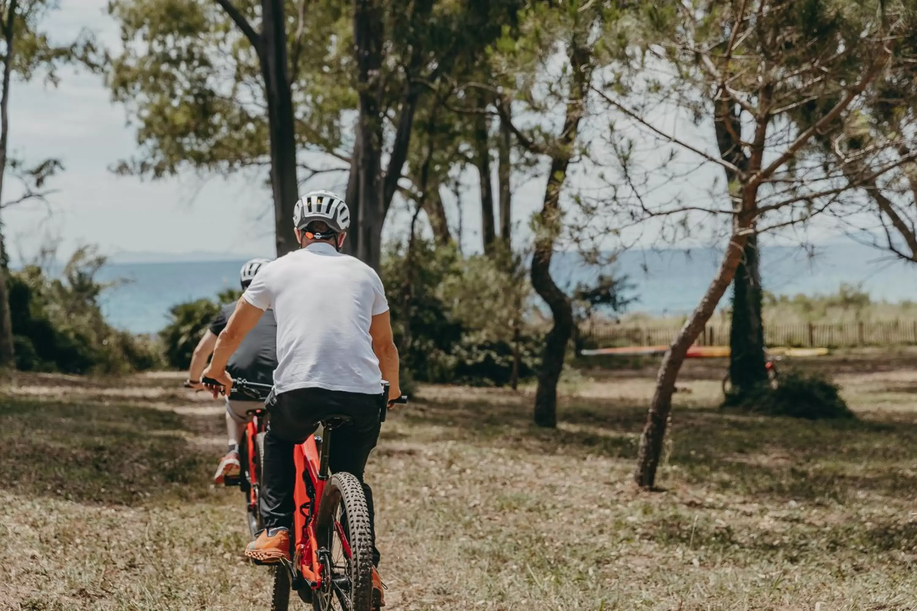
[[535, 423], [541, 427], [554, 428], [558, 424], [558, 380], [567, 355], [570, 334], [573, 333], [573, 308], [569, 297], [551, 278], [550, 268], [554, 243], [561, 229], [560, 190], [567, 179], [570, 156], [585, 112], [586, 93], [591, 82], [590, 59], [589, 49], [574, 40], [569, 53], [573, 86], [570, 87], [563, 131], [557, 142], [559, 152], [551, 159], [545, 202], [538, 215], [535, 251], [532, 255], [532, 287], [545, 300], [554, 319], [545, 337], [545, 351], [538, 370], [538, 387], [535, 392]]

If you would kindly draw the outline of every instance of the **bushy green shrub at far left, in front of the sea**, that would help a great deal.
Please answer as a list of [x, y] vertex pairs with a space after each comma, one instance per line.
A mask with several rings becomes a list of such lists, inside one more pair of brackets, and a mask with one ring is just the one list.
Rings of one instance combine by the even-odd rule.
[[94, 279], [105, 263], [91, 248], [81, 248], [50, 278], [37, 265], [10, 275], [10, 315], [17, 368], [68, 374], [122, 374], [160, 366], [158, 346], [109, 326], [99, 295], [109, 285]]

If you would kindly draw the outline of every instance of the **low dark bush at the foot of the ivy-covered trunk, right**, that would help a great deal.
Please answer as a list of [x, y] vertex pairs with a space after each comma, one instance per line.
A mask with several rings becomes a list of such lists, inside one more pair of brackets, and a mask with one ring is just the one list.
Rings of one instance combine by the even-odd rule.
[[730, 393], [724, 406], [807, 420], [856, 418], [830, 378], [800, 371], [781, 375], [776, 388], [764, 384], [741, 394]]

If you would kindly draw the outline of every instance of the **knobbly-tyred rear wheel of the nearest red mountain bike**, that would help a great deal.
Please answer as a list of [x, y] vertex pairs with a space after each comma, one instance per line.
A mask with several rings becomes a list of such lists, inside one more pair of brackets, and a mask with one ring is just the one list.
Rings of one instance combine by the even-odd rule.
[[326, 550], [316, 611], [370, 611], [372, 535], [370, 510], [356, 476], [338, 473], [325, 486], [315, 523], [319, 550]]

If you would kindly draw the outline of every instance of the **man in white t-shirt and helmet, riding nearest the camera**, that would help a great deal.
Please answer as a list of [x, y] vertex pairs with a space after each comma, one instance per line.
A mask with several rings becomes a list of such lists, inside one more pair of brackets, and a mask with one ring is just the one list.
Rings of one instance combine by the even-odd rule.
[[[303, 442], [332, 414], [353, 421], [335, 433], [331, 471], [347, 471], [363, 484], [375, 540], [372, 491], [363, 482], [363, 471], [379, 439], [382, 379], [392, 385], [390, 399], [401, 397], [398, 350], [379, 276], [359, 259], [339, 252], [349, 221], [347, 204], [330, 191], [313, 191], [296, 202], [293, 224], [301, 249], [260, 268], [204, 371], [204, 376], [232, 387], [226, 374], [229, 356], [262, 312], [274, 311], [278, 365], [260, 490], [265, 529], [246, 549], [261, 562], [290, 559], [293, 444]], [[373, 594], [376, 605], [383, 606], [378, 564], [379, 551], [373, 545]]]

